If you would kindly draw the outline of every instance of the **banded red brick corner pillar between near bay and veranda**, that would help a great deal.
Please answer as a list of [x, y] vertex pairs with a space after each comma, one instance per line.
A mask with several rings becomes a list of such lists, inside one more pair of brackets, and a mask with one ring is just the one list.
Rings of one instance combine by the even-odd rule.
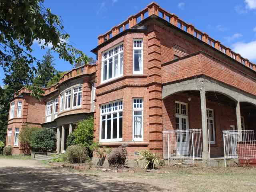
[[162, 156], [162, 80], [158, 26], [148, 29], [149, 150]]

